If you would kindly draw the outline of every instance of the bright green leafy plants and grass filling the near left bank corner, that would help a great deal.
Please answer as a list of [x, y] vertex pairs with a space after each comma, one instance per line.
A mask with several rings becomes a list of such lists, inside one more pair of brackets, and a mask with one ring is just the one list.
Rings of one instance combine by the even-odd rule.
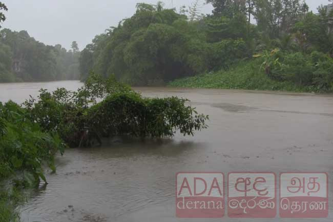
[[[0, 103], [0, 221], [15, 221], [16, 189], [46, 181], [42, 163], [55, 171], [54, 154], [65, 144], [57, 134], [43, 132], [28, 118], [27, 110], [13, 102]], [[6, 184], [4, 179], [11, 178]]]

